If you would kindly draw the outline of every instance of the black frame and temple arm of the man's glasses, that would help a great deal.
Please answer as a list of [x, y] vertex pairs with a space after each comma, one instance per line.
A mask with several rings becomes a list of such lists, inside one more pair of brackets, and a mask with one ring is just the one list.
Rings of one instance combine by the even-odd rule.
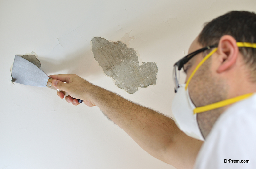
[[198, 49], [195, 52], [192, 52], [188, 55], [186, 55], [185, 57], [183, 57], [182, 59], [180, 59], [178, 62], [176, 62], [173, 66], [177, 66], [178, 70], [181, 70], [181, 68], [183, 68], [184, 64], [186, 64], [192, 57], [194, 57], [195, 55], [199, 54], [200, 52], [204, 52], [205, 50], [209, 50], [211, 48], [215, 48], [217, 47], [218, 44], [216, 45], [211, 45], [211, 46], [206, 46], [204, 48]]

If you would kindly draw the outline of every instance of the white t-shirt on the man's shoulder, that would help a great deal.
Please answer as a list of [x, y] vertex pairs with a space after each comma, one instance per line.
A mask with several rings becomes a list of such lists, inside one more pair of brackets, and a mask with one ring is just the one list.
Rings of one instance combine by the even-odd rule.
[[194, 167], [256, 169], [256, 94], [221, 114], [201, 147]]

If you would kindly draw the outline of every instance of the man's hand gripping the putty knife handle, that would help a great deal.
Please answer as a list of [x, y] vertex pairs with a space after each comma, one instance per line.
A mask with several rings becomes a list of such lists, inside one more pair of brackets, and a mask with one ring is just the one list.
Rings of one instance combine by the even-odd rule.
[[[67, 102], [72, 102], [73, 105], [78, 105], [80, 103], [78, 103], [77, 99], [81, 99], [84, 100], [84, 104], [87, 106], [95, 106], [95, 104], [92, 102], [92, 99], [90, 98], [89, 93], [96, 86], [75, 74], [50, 75], [49, 77], [54, 79], [52, 80], [52, 85], [56, 89], [68, 92], [69, 96], [66, 96], [65, 98]], [[62, 92], [57, 92], [57, 95], [61, 99], [63, 99], [65, 96]]]

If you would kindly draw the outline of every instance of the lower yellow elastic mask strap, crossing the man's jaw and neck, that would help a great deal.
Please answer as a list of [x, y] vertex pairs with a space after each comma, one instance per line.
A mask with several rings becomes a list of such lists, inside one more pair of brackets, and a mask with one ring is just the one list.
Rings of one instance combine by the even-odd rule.
[[196, 113], [202, 113], [202, 112], [206, 112], [206, 111], [213, 110], [213, 109], [216, 109], [216, 108], [224, 107], [224, 106], [230, 105], [232, 103], [236, 103], [238, 101], [244, 100], [244, 99], [252, 96], [253, 94], [254, 93], [244, 94], [244, 95], [237, 96], [237, 97], [227, 99], [227, 100], [223, 100], [223, 101], [220, 101], [220, 102], [217, 102], [217, 103], [212, 103], [210, 105], [196, 107], [193, 110], [193, 112], [194, 112], [194, 114], [196, 114]]

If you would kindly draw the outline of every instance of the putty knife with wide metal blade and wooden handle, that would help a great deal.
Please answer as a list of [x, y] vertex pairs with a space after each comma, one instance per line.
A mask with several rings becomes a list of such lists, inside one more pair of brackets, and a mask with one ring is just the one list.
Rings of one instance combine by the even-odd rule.
[[[57, 90], [52, 86], [52, 80], [52, 78], [49, 78], [43, 72], [43, 70], [39, 69], [36, 65], [20, 56], [15, 55], [12, 67], [12, 82], [30, 86], [48, 87]], [[67, 92], [60, 92], [62, 92], [65, 96], [68, 96]], [[77, 100], [79, 103], [83, 102], [83, 100]]]

